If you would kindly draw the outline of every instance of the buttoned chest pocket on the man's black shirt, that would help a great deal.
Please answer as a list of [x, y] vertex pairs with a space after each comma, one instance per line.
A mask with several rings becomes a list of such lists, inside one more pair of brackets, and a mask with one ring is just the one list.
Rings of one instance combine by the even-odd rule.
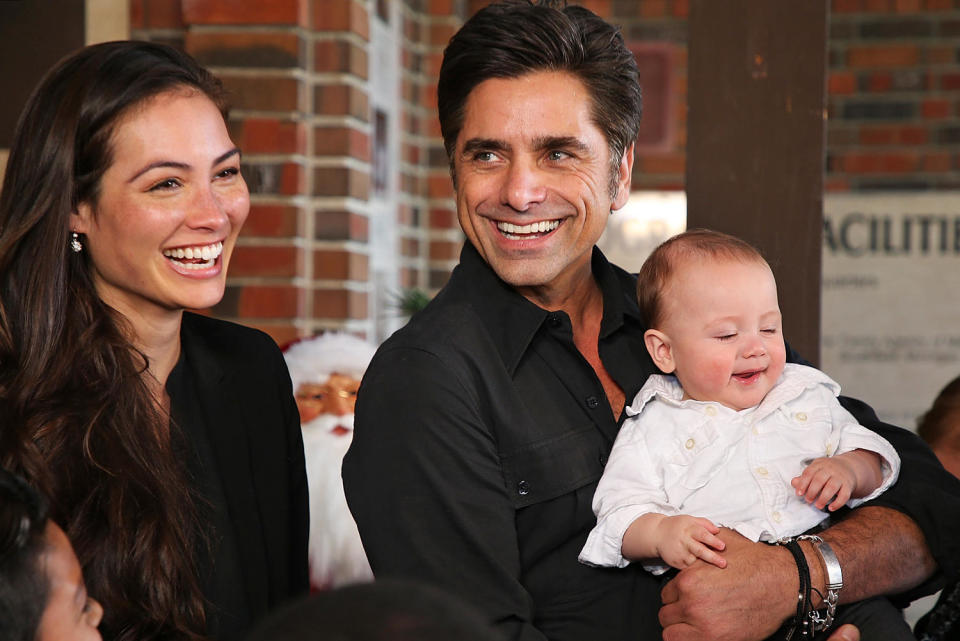
[[515, 508], [557, 498], [598, 480], [603, 455], [603, 438], [593, 424], [503, 453], [507, 493]]

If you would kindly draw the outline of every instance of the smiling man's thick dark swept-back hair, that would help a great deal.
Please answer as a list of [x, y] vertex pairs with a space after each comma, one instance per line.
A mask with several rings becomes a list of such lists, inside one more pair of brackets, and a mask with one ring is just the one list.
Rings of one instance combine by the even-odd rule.
[[594, 124], [620, 163], [640, 127], [637, 63], [620, 29], [588, 9], [555, 0], [511, 0], [478, 11], [443, 52], [437, 103], [451, 167], [467, 96], [485, 80], [561, 71], [579, 78]]

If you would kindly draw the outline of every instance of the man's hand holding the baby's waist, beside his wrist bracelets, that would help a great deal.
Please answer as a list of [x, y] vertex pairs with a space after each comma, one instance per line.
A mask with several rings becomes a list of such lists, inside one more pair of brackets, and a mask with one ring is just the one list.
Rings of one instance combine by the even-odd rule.
[[717, 536], [726, 568], [696, 562], [664, 586], [664, 641], [760, 641], [796, 614], [800, 580], [790, 552], [725, 528]]

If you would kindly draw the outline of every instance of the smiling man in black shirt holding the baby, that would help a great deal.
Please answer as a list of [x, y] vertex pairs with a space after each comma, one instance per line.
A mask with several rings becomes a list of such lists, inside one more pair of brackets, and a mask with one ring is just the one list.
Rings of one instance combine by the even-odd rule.
[[[769, 636], [797, 611], [782, 547], [721, 531], [727, 568], [697, 563], [662, 595], [638, 565], [577, 563], [625, 399], [656, 372], [635, 279], [594, 247], [628, 197], [640, 115], [618, 31], [579, 7], [491, 5], [451, 39], [438, 97], [468, 242], [360, 390], [343, 472], [374, 572], [445, 586], [511, 639]], [[910, 588], [938, 563], [956, 572], [957, 485], [912, 435], [847, 406], [908, 471], [887, 507], [823, 534], [840, 598]], [[801, 549], [826, 594], [820, 555]]]

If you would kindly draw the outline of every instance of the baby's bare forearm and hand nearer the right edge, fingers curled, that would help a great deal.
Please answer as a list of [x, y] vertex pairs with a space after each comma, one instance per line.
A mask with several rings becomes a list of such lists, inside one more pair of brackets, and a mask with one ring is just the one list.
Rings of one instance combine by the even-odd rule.
[[883, 458], [868, 450], [852, 450], [830, 458], [814, 459], [790, 481], [797, 496], [817, 509], [831, 512], [843, 507], [851, 498], [868, 496], [883, 482]]

